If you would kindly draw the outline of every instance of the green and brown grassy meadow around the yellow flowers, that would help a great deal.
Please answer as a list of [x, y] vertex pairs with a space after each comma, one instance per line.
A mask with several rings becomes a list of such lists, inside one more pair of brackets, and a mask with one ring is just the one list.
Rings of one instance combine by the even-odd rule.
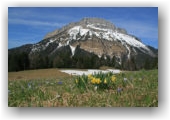
[[[109, 82], [113, 76], [114, 82]], [[8, 106], [158, 106], [158, 70], [123, 72], [115, 75], [100, 73], [92, 78], [100, 82], [95, 84], [89, 76], [70, 76], [58, 69], [9, 72]]]

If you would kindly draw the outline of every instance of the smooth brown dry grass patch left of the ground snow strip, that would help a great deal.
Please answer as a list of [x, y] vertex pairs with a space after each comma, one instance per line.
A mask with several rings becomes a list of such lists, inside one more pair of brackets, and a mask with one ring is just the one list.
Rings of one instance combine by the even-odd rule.
[[59, 69], [39, 69], [19, 72], [8, 72], [8, 80], [32, 80], [49, 78], [66, 78], [70, 75], [60, 72]]

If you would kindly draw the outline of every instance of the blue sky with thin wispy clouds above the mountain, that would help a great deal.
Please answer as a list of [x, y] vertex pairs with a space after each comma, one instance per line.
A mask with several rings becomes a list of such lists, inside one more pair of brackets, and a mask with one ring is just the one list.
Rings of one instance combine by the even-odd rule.
[[55, 29], [84, 17], [98, 17], [158, 48], [157, 7], [9, 7], [8, 48], [37, 43]]

